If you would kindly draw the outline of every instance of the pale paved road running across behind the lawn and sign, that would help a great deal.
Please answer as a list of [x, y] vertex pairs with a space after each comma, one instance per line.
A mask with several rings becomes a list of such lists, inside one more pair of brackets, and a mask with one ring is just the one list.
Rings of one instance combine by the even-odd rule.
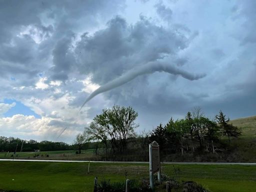
[[[0, 161], [35, 161], [35, 162], [105, 162], [105, 163], [148, 163], [147, 161], [88, 161], [88, 160], [33, 160], [33, 159], [7, 159], [0, 158]], [[256, 165], [255, 162], [162, 162], [164, 164], [239, 164]]]

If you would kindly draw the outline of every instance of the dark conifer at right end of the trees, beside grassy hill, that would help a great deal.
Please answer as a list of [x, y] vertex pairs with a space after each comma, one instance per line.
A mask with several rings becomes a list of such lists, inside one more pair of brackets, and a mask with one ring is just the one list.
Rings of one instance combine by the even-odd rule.
[[225, 115], [221, 110], [219, 111], [219, 114], [216, 115], [216, 120], [217, 120], [218, 126], [222, 130], [222, 134], [228, 137], [229, 143], [230, 143], [230, 137], [238, 137], [241, 134], [241, 131], [239, 130], [238, 127], [233, 126], [232, 123], [231, 124], [228, 123], [230, 119], [229, 118], [226, 119]]

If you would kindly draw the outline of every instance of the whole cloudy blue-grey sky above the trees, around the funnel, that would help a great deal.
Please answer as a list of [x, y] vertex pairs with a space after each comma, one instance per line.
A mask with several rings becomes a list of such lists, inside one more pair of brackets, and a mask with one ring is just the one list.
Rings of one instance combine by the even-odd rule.
[[[71, 143], [114, 104], [138, 112], [136, 132], [194, 107], [210, 118], [219, 110], [231, 119], [256, 115], [255, 7], [255, 0], [0, 0], [0, 136]], [[109, 90], [79, 111], [105, 84]]]

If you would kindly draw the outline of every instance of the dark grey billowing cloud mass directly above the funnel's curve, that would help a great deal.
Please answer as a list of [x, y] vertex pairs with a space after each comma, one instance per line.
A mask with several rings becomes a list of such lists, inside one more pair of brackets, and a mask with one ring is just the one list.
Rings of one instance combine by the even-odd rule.
[[117, 16], [107, 27], [83, 35], [76, 46], [79, 71], [93, 73], [92, 80], [105, 83], [130, 68], [173, 55], [188, 39], [171, 29], [157, 26], [141, 16], [134, 25]]

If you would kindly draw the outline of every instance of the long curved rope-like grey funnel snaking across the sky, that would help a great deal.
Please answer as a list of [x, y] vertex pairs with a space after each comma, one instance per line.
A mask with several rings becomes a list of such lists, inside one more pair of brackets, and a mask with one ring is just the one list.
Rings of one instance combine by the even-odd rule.
[[83, 102], [82, 106], [80, 107], [79, 111], [81, 110], [81, 108], [84, 106], [84, 104], [86, 102], [88, 102], [90, 99], [92, 99], [97, 94], [100, 94], [102, 92], [106, 92], [108, 90], [111, 90], [113, 88], [121, 86], [122, 84], [129, 82], [130, 80], [136, 78], [139, 75], [150, 74], [153, 72], [167, 72], [170, 74], [181, 75], [183, 78], [186, 78], [188, 80], [197, 80], [206, 75], [204, 73], [203, 74], [193, 74], [193, 73], [187, 72], [185, 70], [182, 70], [180, 68], [177, 68], [173, 65], [170, 65], [169, 63], [166, 63], [166, 62], [159, 62], [159, 61], [150, 62], [148, 64], [144, 64], [144, 65], [135, 67], [133, 69], [130, 69], [127, 72], [125, 72], [124, 74], [122, 74], [121, 76], [98, 87], [86, 98], [86, 100]]

